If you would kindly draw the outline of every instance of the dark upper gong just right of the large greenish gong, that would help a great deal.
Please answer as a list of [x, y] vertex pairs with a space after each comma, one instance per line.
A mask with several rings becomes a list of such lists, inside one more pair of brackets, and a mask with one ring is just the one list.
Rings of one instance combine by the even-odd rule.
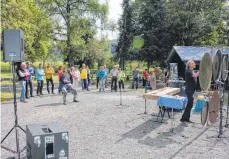
[[212, 77], [214, 81], [218, 81], [221, 75], [221, 51], [218, 50], [213, 58], [213, 65], [212, 65]]

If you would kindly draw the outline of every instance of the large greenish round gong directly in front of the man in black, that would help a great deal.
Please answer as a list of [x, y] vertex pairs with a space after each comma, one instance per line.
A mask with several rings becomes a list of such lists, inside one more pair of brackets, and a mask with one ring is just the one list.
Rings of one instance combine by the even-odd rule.
[[199, 71], [200, 87], [203, 91], [206, 91], [211, 85], [212, 78], [212, 61], [209, 53], [205, 53], [202, 60], [200, 61]]

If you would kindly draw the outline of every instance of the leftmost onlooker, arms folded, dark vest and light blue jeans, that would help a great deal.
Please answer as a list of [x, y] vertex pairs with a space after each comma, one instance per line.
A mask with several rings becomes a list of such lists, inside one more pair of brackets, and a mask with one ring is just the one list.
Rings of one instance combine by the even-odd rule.
[[28, 103], [28, 101], [25, 100], [25, 85], [26, 85], [25, 78], [26, 76], [29, 76], [29, 72], [26, 71], [26, 64], [21, 63], [21, 65], [17, 68], [16, 72], [17, 72], [18, 80], [21, 86], [20, 101], [24, 103]]

